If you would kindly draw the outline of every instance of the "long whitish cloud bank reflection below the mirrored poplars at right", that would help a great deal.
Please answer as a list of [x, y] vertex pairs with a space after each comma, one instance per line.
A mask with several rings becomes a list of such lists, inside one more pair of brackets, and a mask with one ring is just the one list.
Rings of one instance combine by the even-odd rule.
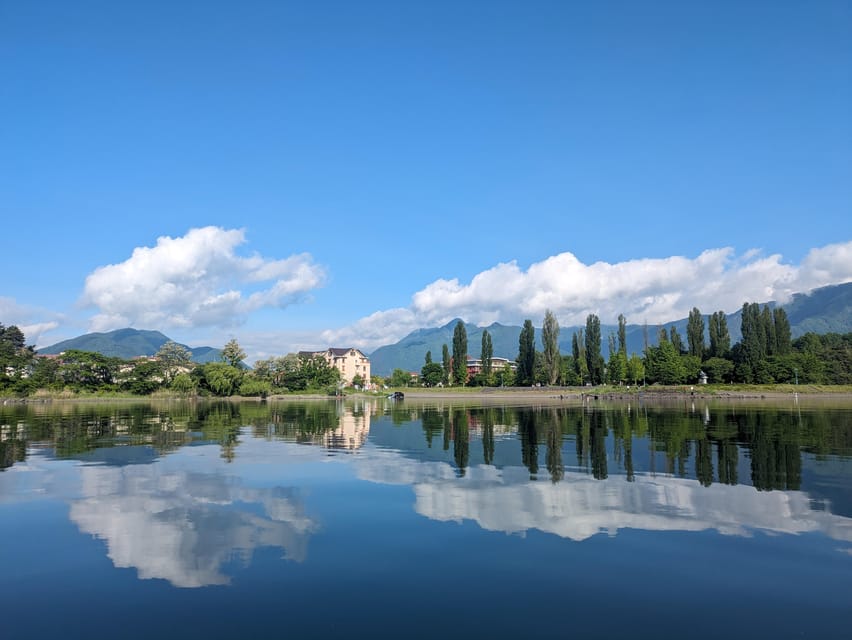
[[807, 493], [757, 492], [718, 486], [708, 491], [695, 480], [636, 476], [598, 482], [585, 473], [566, 473], [560, 483], [531, 481], [523, 467], [477, 466], [456, 481], [440, 462], [412, 464], [388, 455], [381, 464], [361, 464], [359, 477], [384, 484], [408, 484], [415, 509], [440, 521], [471, 520], [489, 531], [519, 534], [537, 529], [585, 540], [621, 529], [701, 531], [750, 535], [755, 530], [799, 534], [819, 532], [852, 543], [852, 519], [814, 510]]

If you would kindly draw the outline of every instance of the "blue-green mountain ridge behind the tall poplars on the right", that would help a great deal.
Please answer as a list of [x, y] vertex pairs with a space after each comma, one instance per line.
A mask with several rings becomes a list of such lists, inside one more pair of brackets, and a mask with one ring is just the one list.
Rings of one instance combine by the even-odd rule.
[[[829, 285], [814, 289], [810, 293], [797, 293], [793, 298], [783, 305], [775, 302], [761, 303], [770, 307], [781, 306], [787, 312], [790, 320], [790, 329], [793, 337], [798, 337], [808, 332], [813, 333], [847, 333], [852, 331], [852, 282], [838, 285]], [[713, 313], [715, 310], [704, 310]], [[740, 316], [742, 310], [727, 314], [728, 331], [731, 334], [731, 344], [739, 341]], [[370, 354], [371, 371], [376, 375], [389, 375], [394, 369], [405, 371], [420, 371], [427, 351], [432, 352], [432, 360], [441, 362], [443, 345], [446, 344], [452, 350], [453, 330], [458, 319], [433, 329], [418, 329], [405, 336], [395, 344], [385, 345], [374, 350]], [[657, 343], [657, 327], [675, 326], [684, 342], [686, 341], [687, 319], [681, 318], [662, 324], [647, 325], [648, 342], [651, 345]], [[705, 334], [709, 326], [708, 314], [704, 314]], [[521, 332], [520, 326], [502, 325], [494, 323], [488, 327], [477, 327], [465, 322], [467, 330], [468, 353], [478, 356], [482, 343], [482, 331], [488, 329], [494, 347], [494, 355], [514, 360], [518, 355], [518, 336]], [[560, 327], [559, 350], [561, 353], [571, 353], [571, 336], [585, 326]], [[645, 325], [627, 325], [627, 352], [642, 353], [645, 348]], [[616, 325], [601, 325], [601, 352], [604, 357], [608, 356], [607, 340], [610, 333], [617, 333]], [[541, 329], [536, 327], [535, 332], [536, 349], [541, 349]], [[709, 337], [705, 335], [705, 341]]]

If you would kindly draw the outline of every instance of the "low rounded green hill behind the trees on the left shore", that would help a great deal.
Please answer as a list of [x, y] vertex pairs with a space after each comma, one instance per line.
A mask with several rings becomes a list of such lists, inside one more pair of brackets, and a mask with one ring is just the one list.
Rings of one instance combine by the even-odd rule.
[[[76, 338], [57, 342], [49, 347], [39, 349], [41, 355], [59, 354], [71, 349], [80, 351], [95, 351], [112, 358], [130, 360], [139, 356], [153, 356], [171, 338], [159, 331], [144, 331], [140, 329], [116, 329], [106, 333], [87, 333]], [[178, 343], [180, 344], [180, 343]], [[213, 347], [189, 347], [181, 345], [192, 352], [193, 362], [218, 362], [222, 359], [222, 351]]]

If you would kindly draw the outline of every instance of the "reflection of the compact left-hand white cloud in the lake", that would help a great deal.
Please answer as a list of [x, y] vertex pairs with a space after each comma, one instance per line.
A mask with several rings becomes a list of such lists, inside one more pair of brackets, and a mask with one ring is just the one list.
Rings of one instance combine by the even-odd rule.
[[106, 542], [116, 567], [177, 587], [227, 584], [223, 565], [247, 563], [260, 547], [301, 562], [316, 528], [293, 488], [160, 465], [83, 467], [81, 481], [84, 497], [70, 510], [80, 530]]

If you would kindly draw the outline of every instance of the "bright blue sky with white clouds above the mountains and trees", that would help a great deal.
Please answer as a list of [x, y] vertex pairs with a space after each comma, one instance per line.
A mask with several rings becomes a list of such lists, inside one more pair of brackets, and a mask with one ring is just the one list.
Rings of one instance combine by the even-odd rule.
[[852, 280], [852, 1], [0, 0], [0, 323], [367, 352]]

